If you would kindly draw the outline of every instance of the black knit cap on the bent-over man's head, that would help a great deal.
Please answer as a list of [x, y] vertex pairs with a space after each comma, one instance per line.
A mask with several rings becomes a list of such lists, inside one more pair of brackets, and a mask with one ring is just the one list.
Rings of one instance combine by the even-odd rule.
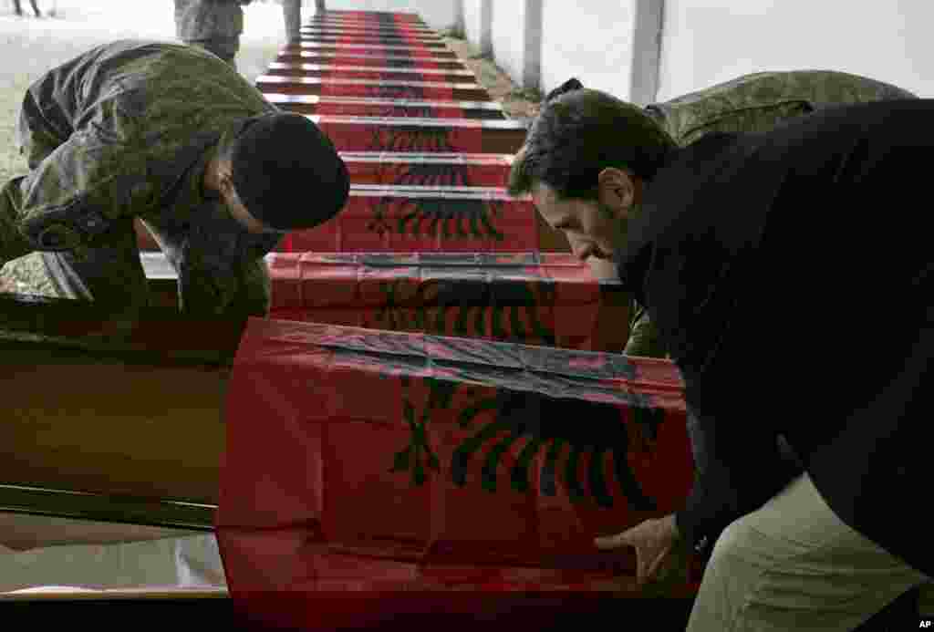
[[233, 187], [249, 214], [276, 230], [314, 228], [347, 204], [347, 165], [300, 114], [250, 120], [233, 142], [231, 162]]

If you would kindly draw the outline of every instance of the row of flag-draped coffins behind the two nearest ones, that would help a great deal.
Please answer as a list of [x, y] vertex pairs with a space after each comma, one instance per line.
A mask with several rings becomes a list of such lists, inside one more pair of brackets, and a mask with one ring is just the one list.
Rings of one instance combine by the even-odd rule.
[[[257, 87], [315, 120], [351, 178], [347, 208], [280, 251], [567, 251], [528, 198], [504, 189], [526, 124], [507, 119], [427, 27], [320, 18]], [[294, 204], [314, 204], [314, 192]], [[144, 249], [157, 248], [137, 230]]]

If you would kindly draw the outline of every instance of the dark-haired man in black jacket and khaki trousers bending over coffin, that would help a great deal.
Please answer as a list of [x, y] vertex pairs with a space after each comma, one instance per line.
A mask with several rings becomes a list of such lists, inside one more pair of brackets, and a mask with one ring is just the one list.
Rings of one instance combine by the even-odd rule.
[[[514, 188], [615, 257], [685, 379], [699, 461], [685, 507], [597, 544], [634, 547], [645, 582], [722, 531], [692, 632], [852, 630], [934, 576], [917, 512], [934, 288], [927, 218], [910, 211], [932, 115], [927, 100], [851, 105], [676, 148], [639, 108], [577, 90], [530, 131]], [[629, 142], [607, 147], [620, 129]], [[897, 305], [899, 326], [867, 353], [870, 304]]]

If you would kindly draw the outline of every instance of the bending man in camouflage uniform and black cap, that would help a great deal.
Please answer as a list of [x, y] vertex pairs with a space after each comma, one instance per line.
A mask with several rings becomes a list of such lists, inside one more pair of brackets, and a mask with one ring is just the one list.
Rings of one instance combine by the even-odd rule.
[[310, 119], [177, 44], [118, 41], [52, 69], [17, 134], [31, 171], [0, 189], [0, 267], [41, 251], [58, 294], [129, 316], [149, 301], [134, 218], [175, 268], [183, 311], [264, 316], [263, 256], [347, 200], [347, 167]]

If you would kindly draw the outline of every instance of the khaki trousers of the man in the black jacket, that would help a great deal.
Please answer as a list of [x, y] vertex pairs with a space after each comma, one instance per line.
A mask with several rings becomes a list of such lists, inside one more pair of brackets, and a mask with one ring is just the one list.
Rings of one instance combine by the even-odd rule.
[[849, 632], [927, 582], [843, 524], [803, 474], [724, 530], [687, 631]]

